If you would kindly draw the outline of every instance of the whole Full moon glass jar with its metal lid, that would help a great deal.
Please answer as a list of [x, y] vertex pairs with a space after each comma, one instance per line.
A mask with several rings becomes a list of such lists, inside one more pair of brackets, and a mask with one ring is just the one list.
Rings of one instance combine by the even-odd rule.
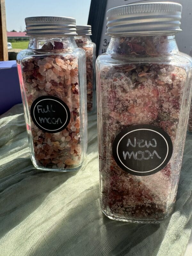
[[32, 162], [43, 170], [76, 170], [87, 143], [85, 53], [75, 42], [76, 21], [25, 22], [29, 44], [17, 67]]

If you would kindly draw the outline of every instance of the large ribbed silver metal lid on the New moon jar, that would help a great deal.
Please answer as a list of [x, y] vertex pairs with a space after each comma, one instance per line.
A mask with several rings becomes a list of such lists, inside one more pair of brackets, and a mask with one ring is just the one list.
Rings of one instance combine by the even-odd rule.
[[106, 35], [172, 35], [180, 29], [182, 5], [172, 2], [129, 4], [107, 11]]

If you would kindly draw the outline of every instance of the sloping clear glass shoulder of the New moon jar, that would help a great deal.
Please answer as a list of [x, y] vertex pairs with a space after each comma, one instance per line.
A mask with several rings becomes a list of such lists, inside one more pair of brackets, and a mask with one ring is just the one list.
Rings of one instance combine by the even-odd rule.
[[158, 56], [131, 56], [103, 53], [96, 60], [96, 65], [99, 69], [129, 64], [162, 64], [180, 67], [189, 71], [192, 68], [192, 58], [182, 52], [177, 52], [176, 54], [162, 54]]

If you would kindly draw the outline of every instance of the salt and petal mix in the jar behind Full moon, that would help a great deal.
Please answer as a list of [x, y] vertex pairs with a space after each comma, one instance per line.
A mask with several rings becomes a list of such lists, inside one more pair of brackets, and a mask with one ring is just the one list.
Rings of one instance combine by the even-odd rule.
[[86, 55], [86, 79], [87, 79], [87, 111], [93, 110], [93, 47], [87, 45], [86, 38], [76, 38], [76, 44], [84, 49]]

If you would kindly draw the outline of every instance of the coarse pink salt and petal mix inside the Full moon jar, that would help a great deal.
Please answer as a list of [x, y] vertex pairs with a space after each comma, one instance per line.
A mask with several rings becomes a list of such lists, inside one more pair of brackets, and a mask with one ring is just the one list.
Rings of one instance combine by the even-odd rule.
[[[42, 48], [62, 49], [63, 44], [55, 42], [53, 46], [48, 43]], [[67, 127], [56, 133], [39, 129], [30, 115], [28, 130], [31, 129], [37, 165], [61, 169], [78, 166], [81, 164], [81, 120], [77, 58], [70, 55], [29, 57], [21, 61], [21, 72], [29, 110], [32, 103], [41, 96], [56, 97], [69, 110]], [[50, 109], [47, 107], [46, 111]], [[55, 112], [54, 108], [52, 111]]]

